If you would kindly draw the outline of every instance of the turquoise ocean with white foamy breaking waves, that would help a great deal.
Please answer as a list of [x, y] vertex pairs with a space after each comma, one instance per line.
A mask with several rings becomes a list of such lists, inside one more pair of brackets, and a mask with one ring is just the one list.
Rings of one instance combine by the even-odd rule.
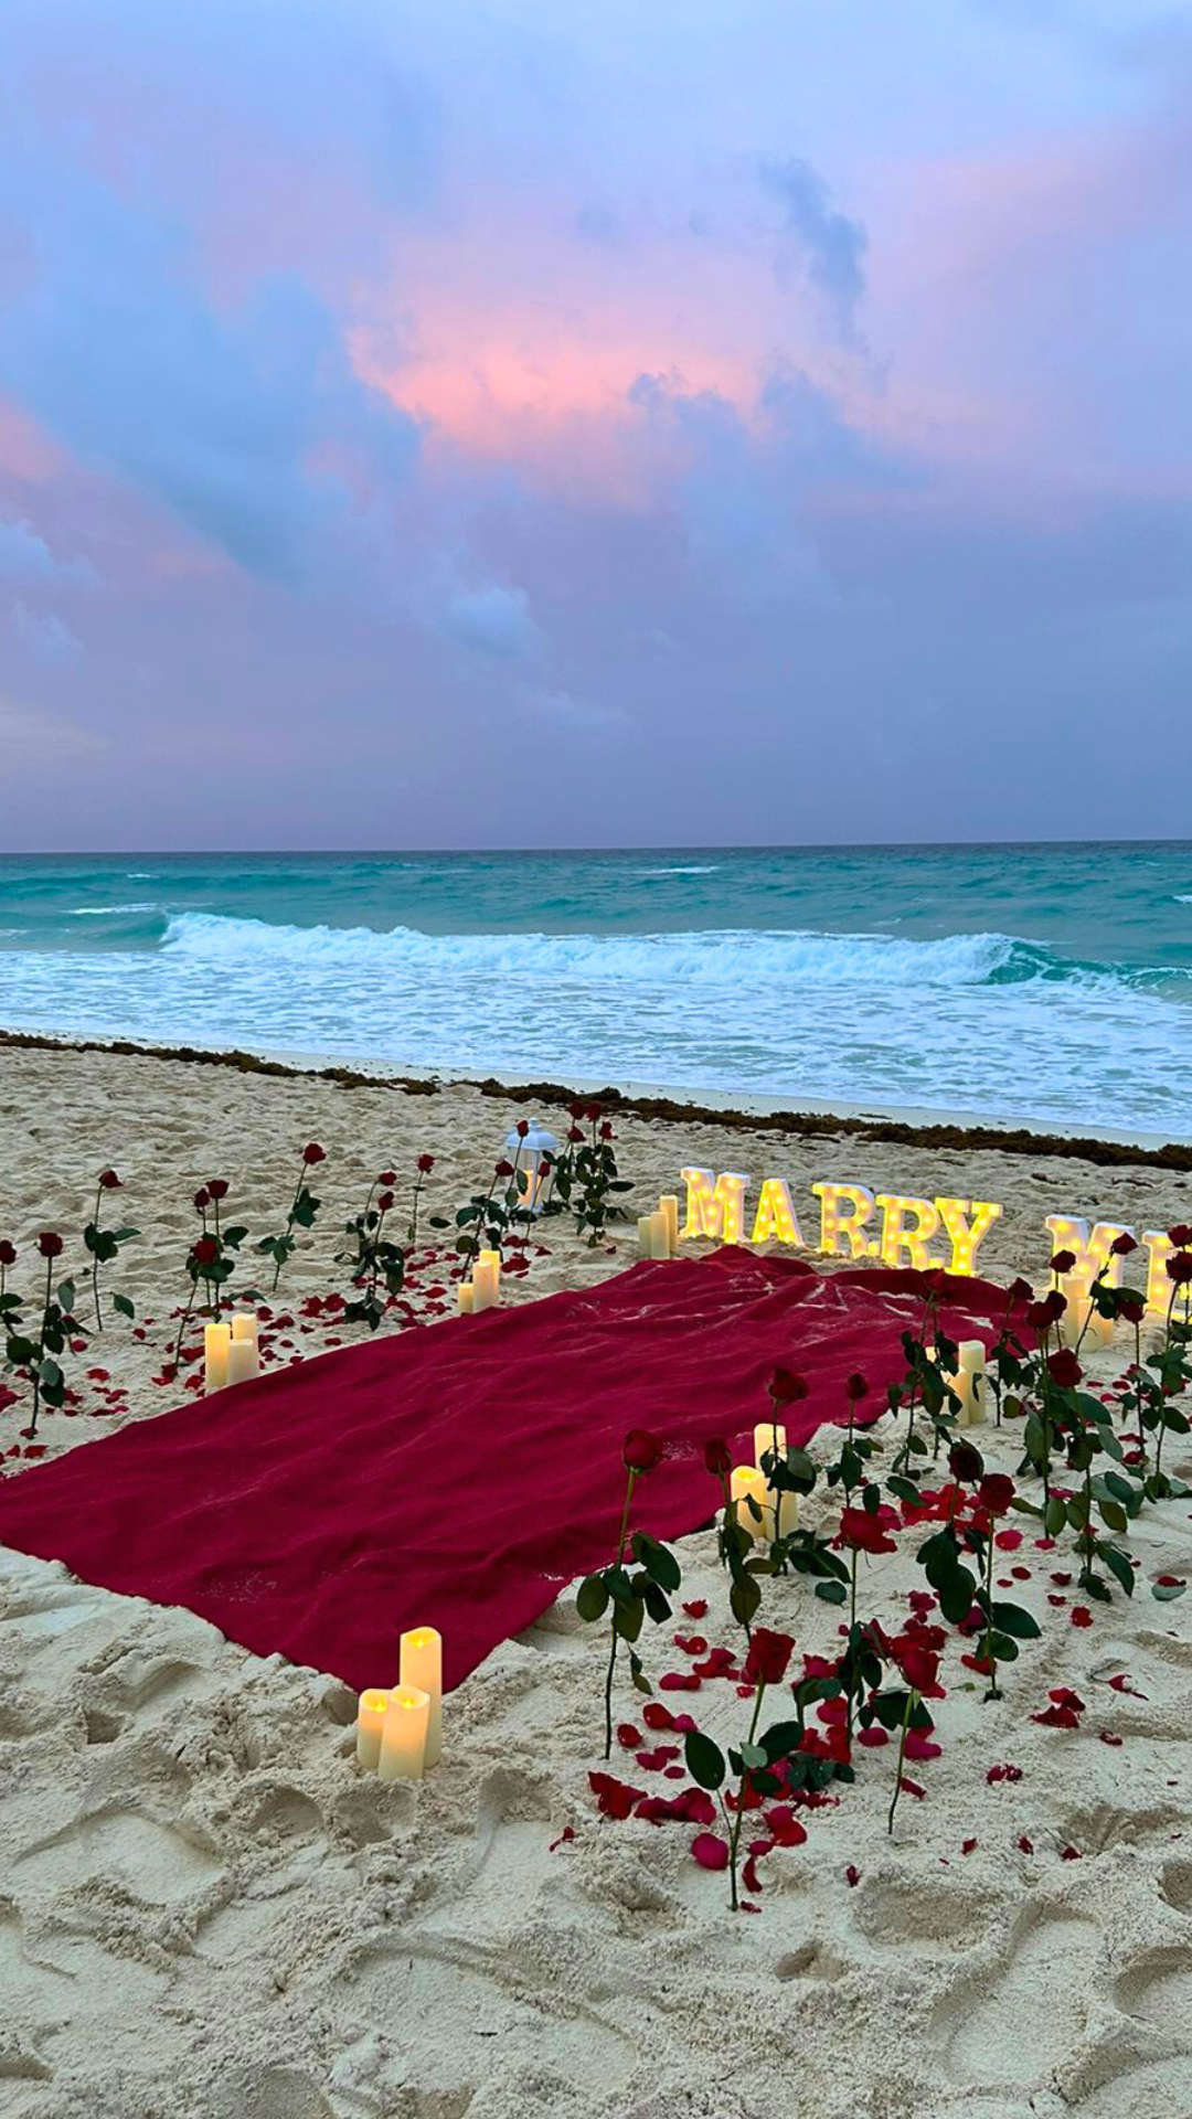
[[1192, 1136], [1192, 843], [0, 860], [0, 1023]]

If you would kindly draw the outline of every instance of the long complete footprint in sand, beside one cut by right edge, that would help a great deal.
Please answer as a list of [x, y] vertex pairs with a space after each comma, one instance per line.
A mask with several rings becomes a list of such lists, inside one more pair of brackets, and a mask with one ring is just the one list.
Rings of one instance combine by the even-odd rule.
[[[1044, 2083], [1084, 2036], [1082, 1996], [1097, 1952], [1094, 1922], [1027, 1913], [1005, 1964], [963, 1979], [935, 2013], [952, 2072], [991, 2087]], [[1048, 2000], [1056, 1964], [1069, 1996], [1063, 2011]]]

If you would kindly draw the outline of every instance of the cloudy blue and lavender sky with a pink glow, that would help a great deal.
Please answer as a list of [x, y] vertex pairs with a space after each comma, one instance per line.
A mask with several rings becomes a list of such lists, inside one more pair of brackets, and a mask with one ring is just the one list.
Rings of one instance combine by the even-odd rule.
[[1192, 4], [0, 0], [0, 843], [1192, 833]]

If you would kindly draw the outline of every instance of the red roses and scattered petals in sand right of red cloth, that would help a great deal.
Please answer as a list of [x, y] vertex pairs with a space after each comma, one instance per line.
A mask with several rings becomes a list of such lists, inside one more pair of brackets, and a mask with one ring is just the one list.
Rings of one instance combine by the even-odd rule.
[[[1094, 1602], [1109, 1602], [1114, 1591], [1135, 1593], [1135, 1566], [1120, 1543], [1130, 1521], [1147, 1504], [1186, 1496], [1188, 1488], [1162, 1464], [1164, 1441], [1186, 1437], [1188, 1413], [1179, 1396], [1192, 1382], [1192, 1227], [1169, 1231], [1179, 1246], [1169, 1261], [1171, 1301], [1162, 1343], [1143, 1358], [1141, 1324], [1145, 1303], [1133, 1288], [1111, 1288], [1105, 1269], [1088, 1297], [1088, 1314], [1075, 1333], [1075, 1346], [1060, 1343], [1060, 1318], [1067, 1299], [1058, 1288], [1073, 1259], [1060, 1252], [1052, 1259], [1054, 1286], [1035, 1301], [1033, 1288], [1016, 1280], [1007, 1295], [1005, 1316], [995, 1346], [988, 1350], [988, 1379], [995, 1424], [1012, 1424], [1020, 1435], [1022, 1458], [1014, 1477], [988, 1471], [969, 1432], [961, 1432], [957, 1415], [961, 1401], [950, 1388], [959, 1348], [937, 1318], [944, 1276], [927, 1276], [923, 1318], [916, 1333], [904, 1333], [906, 1373], [887, 1388], [884, 1411], [897, 1420], [895, 1437], [876, 1426], [859, 1428], [859, 1413], [870, 1399], [863, 1375], [851, 1375], [844, 1386], [844, 1407], [831, 1407], [829, 1418], [840, 1430], [840, 1449], [821, 1468], [806, 1449], [772, 1447], [761, 1456], [772, 1507], [761, 1511], [749, 1496], [734, 1500], [730, 1492], [732, 1454], [728, 1443], [713, 1439], [704, 1447], [704, 1464], [719, 1488], [719, 1560], [728, 1583], [728, 1606], [740, 1630], [738, 1649], [708, 1649], [702, 1634], [674, 1634], [674, 1646], [689, 1657], [687, 1672], [662, 1678], [664, 1691], [700, 1691], [706, 1680], [728, 1680], [747, 1702], [740, 1740], [728, 1752], [706, 1735], [689, 1712], [674, 1714], [655, 1697], [647, 1697], [641, 1719], [653, 1735], [643, 1740], [632, 1723], [613, 1727], [613, 1691], [621, 1649], [628, 1655], [630, 1682], [651, 1695], [651, 1682], [638, 1653], [645, 1621], [664, 1625], [672, 1615], [672, 1598], [681, 1589], [681, 1568], [674, 1553], [643, 1530], [630, 1534], [630, 1513], [636, 1483], [662, 1458], [662, 1443], [634, 1428], [624, 1443], [628, 1473], [626, 1502], [613, 1560], [579, 1585], [579, 1615], [590, 1623], [607, 1623], [609, 1659], [604, 1666], [604, 1759], [613, 1752], [613, 1733], [636, 1755], [643, 1771], [685, 1780], [672, 1797], [649, 1795], [617, 1780], [613, 1774], [590, 1774], [598, 1805], [607, 1816], [636, 1816], [653, 1824], [679, 1820], [698, 1824], [691, 1854], [708, 1869], [730, 1871], [732, 1907], [757, 1911], [761, 1892], [759, 1860], [781, 1846], [800, 1846], [806, 1827], [800, 1812], [838, 1801], [836, 1788], [855, 1780], [855, 1748], [882, 1748], [897, 1740], [893, 1769], [889, 1831], [893, 1833], [899, 1795], [923, 1797], [921, 1782], [906, 1774], [916, 1759], [940, 1757], [933, 1742], [935, 1719], [929, 1702], [946, 1697], [940, 1663], [948, 1630], [967, 1642], [961, 1661], [984, 1682], [984, 1699], [1001, 1699], [1005, 1666], [1018, 1659], [1020, 1642], [1039, 1638], [1037, 1619], [1005, 1596], [995, 1579], [997, 1555], [1022, 1543], [1012, 1528], [1014, 1515], [1035, 1521], [1037, 1545], [1054, 1551], [1069, 1536], [1077, 1562], [1077, 1587]], [[1128, 1257], [1135, 1242], [1122, 1235], [1114, 1246]], [[1135, 1358], [1114, 1390], [1097, 1394], [1086, 1388], [1082, 1348], [1092, 1316], [1124, 1320], [1135, 1333]], [[1071, 1337], [1071, 1335], [1069, 1335]], [[808, 1396], [808, 1384], [778, 1369], [770, 1382], [770, 1418], [778, 1428], [785, 1405]], [[776, 1439], [776, 1437], [774, 1437]], [[895, 1443], [891, 1468], [878, 1473], [884, 1445]], [[948, 1477], [933, 1483], [937, 1466]], [[825, 1534], [795, 1528], [785, 1536], [761, 1538], [764, 1521], [781, 1524], [783, 1494], [810, 1494], [823, 1477], [825, 1488], [840, 1498], [836, 1526]], [[744, 1519], [742, 1519], [744, 1511]], [[927, 1530], [916, 1549], [925, 1587], [910, 1591], [910, 1617], [897, 1634], [876, 1617], [865, 1617], [861, 1598], [861, 1555], [895, 1553], [899, 1536]], [[814, 1596], [829, 1606], [846, 1606], [840, 1623], [842, 1649], [836, 1655], [804, 1655], [800, 1676], [789, 1680], [795, 1640], [787, 1632], [759, 1623], [766, 1585], [785, 1577], [806, 1577]], [[1027, 1579], [1027, 1568], [1014, 1577]], [[1014, 1577], [1005, 1583], [1012, 1587]], [[1058, 1585], [1071, 1583], [1071, 1572], [1056, 1572]], [[1184, 1579], [1160, 1574], [1152, 1583], [1158, 1600], [1184, 1593]], [[1063, 1596], [1052, 1602], [1065, 1604]], [[691, 1621], [706, 1617], [706, 1602], [683, 1604]], [[1088, 1606], [1071, 1610], [1071, 1623], [1088, 1625]], [[1120, 1689], [1126, 1689], [1122, 1680]], [[783, 1689], [774, 1719], [772, 1699]], [[1086, 1712], [1084, 1699], [1069, 1687], [1056, 1687], [1048, 1706], [1035, 1712], [1046, 1727], [1075, 1729]], [[814, 1721], [812, 1721], [814, 1716]], [[683, 1746], [679, 1765], [679, 1742]], [[1120, 1742], [1103, 1731], [1105, 1742]], [[1016, 1780], [1014, 1765], [993, 1765], [991, 1780]], [[831, 1791], [831, 1793], [829, 1793]], [[719, 1812], [717, 1812], [719, 1805]], [[742, 1835], [753, 1818], [751, 1835]], [[711, 1831], [721, 1822], [723, 1831]], [[965, 1841], [969, 1852], [976, 1841]], [[1020, 1841], [1031, 1852], [1029, 1841]], [[1065, 1848], [1065, 1856], [1075, 1856]], [[857, 1880], [855, 1871], [848, 1875]], [[742, 1899], [742, 1888], [749, 1899]]]

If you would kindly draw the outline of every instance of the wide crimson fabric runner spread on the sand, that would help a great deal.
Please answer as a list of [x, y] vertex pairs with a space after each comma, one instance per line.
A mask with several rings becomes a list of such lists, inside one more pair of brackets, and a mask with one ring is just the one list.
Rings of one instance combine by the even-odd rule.
[[[751, 1460], [766, 1377], [800, 1369], [791, 1443], [880, 1411], [921, 1318], [918, 1274], [817, 1274], [717, 1250], [581, 1293], [452, 1318], [274, 1371], [0, 1481], [0, 1538], [91, 1583], [187, 1604], [257, 1655], [354, 1689], [397, 1680], [397, 1636], [437, 1625], [458, 1685], [564, 1581], [602, 1566], [626, 1428], [666, 1439], [634, 1528], [706, 1524], [713, 1435]], [[950, 1280], [942, 1320], [991, 1337], [1005, 1295]]]

